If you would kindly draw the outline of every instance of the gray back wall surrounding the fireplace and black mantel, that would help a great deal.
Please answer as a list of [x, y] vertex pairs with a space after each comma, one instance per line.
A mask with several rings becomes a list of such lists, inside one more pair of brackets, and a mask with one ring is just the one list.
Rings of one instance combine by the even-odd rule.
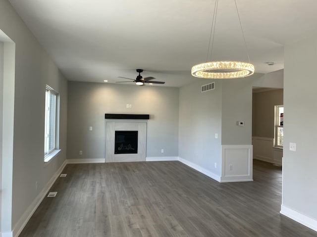
[[176, 87], [69, 81], [67, 158], [105, 158], [105, 113], [149, 114], [146, 156], [178, 157], [178, 94]]

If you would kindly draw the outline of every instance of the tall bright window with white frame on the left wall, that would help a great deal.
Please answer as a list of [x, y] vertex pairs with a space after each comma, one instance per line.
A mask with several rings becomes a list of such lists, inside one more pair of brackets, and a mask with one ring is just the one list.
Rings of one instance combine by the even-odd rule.
[[45, 92], [44, 159], [49, 161], [57, 153], [59, 140], [59, 94], [50, 86]]

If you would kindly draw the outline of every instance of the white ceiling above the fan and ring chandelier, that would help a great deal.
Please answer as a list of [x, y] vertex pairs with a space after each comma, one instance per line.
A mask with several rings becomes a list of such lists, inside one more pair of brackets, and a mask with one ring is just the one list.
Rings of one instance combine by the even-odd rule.
[[[195, 64], [248, 62], [234, 0], [218, 3], [208, 57], [215, 0], [9, 1], [68, 80], [114, 83], [141, 68], [162, 86], [182, 86], [199, 80]], [[284, 45], [317, 31], [316, 0], [236, 2], [256, 73], [282, 69]]]

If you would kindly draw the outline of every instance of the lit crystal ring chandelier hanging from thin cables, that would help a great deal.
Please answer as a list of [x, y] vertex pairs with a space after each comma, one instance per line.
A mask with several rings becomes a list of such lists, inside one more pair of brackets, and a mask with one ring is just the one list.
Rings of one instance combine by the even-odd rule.
[[[249, 58], [249, 53], [247, 50], [247, 44], [244, 37], [240, 15], [238, 12], [238, 7], [236, 0], [234, 0], [240, 28], [243, 36], [243, 40], [245, 43], [247, 55]], [[215, 0], [213, 16], [212, 16], [212, 23], [211, 23], [211, 33], [210, 33], [210, 40], [209, 40], [209, 47], [207, 52], [207, 59], [209, 56], [209, 49], [211, 44], [211, 55], [212, 55], [212, 48], [213, 48], [213, 39], [214, 39], [214, 30], [216, 24], [216, 16], [217, 16], [217, 9], [218, 8], [218, 0]], [[211, 40], [212, 38], [212, 40]], [[208, 61], [208, 60], [207, 60]], [[240, 61], [211, 61], [206, 63], [200, 63], [192, 67], [192, 76], [197, 78], [206, 78], [206, 79], [233, 79], [233, 78], [244, 78], [251, 76], [254, 74], [254, 66], [250, 63], [240, 62]]]

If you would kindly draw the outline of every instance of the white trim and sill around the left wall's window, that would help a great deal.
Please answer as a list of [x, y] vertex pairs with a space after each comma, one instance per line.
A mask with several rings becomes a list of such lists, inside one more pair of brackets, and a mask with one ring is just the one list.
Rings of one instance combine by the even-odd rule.
[[[55, 149], [52, 150], [49, 154], [46, 154], [44, 156], [44, 162], [49, 162], [51, 159], [55, 158], [59, 152], [61, 151], [59, 149], [59, 109], [60, 109], [60, 99], [59, 99], [59, 93], [55, 91], [51, 86], [46, 85], [45, 90], [53, 91], [54, 94], [56, 94], [56, 127], [55, 127]], [[46, 106], [46, 105], [45, 105]]]

